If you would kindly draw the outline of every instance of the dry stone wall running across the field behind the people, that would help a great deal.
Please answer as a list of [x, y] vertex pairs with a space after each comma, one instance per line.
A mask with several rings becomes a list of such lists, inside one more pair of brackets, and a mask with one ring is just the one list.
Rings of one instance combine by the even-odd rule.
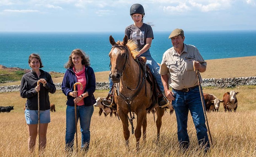
[[[242, 78], [210, 78], [203, 79], [202, 87], [232, 88], [239, 85], [256, 85], [256, 77]], [[55, 83], [57, 90], [61, 90], [61, 83]], [[20, 85], [0, 86], [0, 93], [19, 91]], [[109, 90], [109, 82], [96, 82], [96, 90]]]

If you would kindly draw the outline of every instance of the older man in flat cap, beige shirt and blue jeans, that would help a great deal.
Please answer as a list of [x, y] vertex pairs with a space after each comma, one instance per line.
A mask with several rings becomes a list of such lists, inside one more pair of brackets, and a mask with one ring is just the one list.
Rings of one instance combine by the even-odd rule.
[[[189, 147], [187, 120], [190, 111], [198, 144], [207, 151], [210, 144], [193, 61], [195, 61], [195, 69], [199, 72], [205, 72], [207, 64], [195, 46], [184, 43], [185, 36], [182, 29], [173, 30], [169, 39], [172, 40], [173, 47], [164, 52], [159, 73], [166, 97], [172, 100], [175, 110], [179, 144], [185, 149]], [[201, 76], [200, 81], [202, 82]], [[172, 87], [172, 90], [169, 87]]]

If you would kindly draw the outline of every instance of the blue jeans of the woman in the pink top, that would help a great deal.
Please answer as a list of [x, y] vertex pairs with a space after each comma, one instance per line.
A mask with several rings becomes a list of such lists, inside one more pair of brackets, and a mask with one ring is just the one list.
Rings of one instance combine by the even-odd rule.
[[[81, 149], [88, 150], [90, 144], [90, 120], [94, 112], [94, 106], [77, 106], [77, 121], [80, 120], [82, 133]], [[66, 108], [66, 150], [73, 150], [75, 136], [75, 107]]]

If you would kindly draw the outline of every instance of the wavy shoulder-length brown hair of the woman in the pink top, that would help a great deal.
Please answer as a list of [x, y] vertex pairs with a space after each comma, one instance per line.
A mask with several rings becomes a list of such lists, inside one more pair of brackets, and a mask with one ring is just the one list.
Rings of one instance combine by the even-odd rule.
[[65, 64], [65, 68], [68, 69], [70, 67], [74, 67], [74, 63], [72, 62], [72, 55], [77, 54], [82, 58], [82, 64], [85, 66], [90, 66], [90, 59], [89, 57], [85, 54], [85, 52], [81, 49], [74, 49], [71, 54], [69, 55], [69, 61]]

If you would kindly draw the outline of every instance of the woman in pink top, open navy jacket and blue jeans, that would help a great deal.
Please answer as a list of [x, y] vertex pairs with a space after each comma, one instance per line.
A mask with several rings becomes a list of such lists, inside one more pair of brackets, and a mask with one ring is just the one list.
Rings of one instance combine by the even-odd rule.
[[[77, 103], [77, 121], [80, 120], [80, 130], [82, 134], [81, 150], [88, 151], [90, 143], [90, 120], [94, 112], [93, 104], [96, 103], [94, 91], [96, 89], [96, 79], [94, 70], [90, 67], [89, 57], [81, 50], [74, 49], [69, 61], [66, 63], [67, 69], [62, 81], [61, 90], [67, 96], [66, 108], [66, 151], [72, 151], [74, 147], [75, 135], [75, 103]], [[74, 91], [74, 84], [80, 82], [77, 91]]]

